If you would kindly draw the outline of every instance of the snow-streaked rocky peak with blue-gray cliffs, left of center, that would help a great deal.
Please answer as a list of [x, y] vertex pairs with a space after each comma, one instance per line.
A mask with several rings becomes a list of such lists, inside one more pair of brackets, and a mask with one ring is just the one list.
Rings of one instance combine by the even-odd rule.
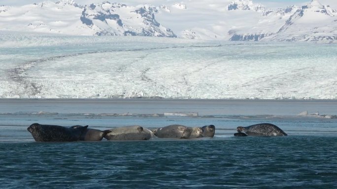
[[120, 3], [103, 2], [86, 5], [80, 20], [94, 35], [139, 35], [156, 37], [176, 37], [155, 19], [156, 7], [143, 5], [138, 7]]

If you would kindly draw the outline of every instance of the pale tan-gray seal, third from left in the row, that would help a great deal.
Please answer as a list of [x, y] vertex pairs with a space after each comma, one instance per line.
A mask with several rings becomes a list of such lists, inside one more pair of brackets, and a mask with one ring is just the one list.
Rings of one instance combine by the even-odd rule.
[[104, 138], [107, 140], [149, 140], [153, 132], [139, 125], [118, 127], [108, 130]]

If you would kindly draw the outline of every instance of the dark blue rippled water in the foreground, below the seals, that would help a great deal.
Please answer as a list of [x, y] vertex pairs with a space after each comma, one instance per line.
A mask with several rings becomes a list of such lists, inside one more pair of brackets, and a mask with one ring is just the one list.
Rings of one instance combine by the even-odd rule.
[[1, 188], [333, 189], [336, 136], [0, 143]]

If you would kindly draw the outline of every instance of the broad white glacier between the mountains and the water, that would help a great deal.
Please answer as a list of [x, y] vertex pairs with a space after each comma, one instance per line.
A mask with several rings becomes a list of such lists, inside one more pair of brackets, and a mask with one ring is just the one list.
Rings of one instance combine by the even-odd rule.
[[0, 98], [337, 99], [337, 44], [0, 31]]

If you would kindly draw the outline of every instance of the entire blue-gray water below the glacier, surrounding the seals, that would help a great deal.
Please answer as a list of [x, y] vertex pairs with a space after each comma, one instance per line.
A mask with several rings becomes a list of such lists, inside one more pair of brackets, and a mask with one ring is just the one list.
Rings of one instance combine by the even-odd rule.
[[[303, 113], [304, 111], [304, 113]], [[302, 114], [307, 115], [298, 115]], [[1, 189], [334, 189], [337, 101], [1, 99]], [[35, 142], [32, 123], [216, 127], [213, 138]], [[235, 137], [272, 123], [288, 136]]]

